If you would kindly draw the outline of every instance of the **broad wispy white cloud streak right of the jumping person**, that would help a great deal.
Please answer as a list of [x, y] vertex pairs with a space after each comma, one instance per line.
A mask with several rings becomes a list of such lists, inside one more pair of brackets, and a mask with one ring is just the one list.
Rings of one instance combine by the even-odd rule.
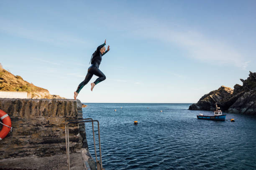
[[150, 38], [175, 43], [185, 48], [190, 57], [215, 64], [233, 64], [241, 69], [246, 69], [248, 61], [235, 48], [221, 40], [212, 40], [210, 37], [194, 31], [175, 31], [169, 28], [157, 27], [143, 30]]

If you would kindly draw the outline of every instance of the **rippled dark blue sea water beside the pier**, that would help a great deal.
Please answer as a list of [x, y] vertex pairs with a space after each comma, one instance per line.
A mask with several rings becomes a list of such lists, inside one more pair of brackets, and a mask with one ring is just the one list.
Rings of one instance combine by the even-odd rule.
[[[211, 112], [187, 110], [190, 104], [84, 104], [84, 118], [100, 121], [106, 170], [256, 169], [256, 117], [228, 114], [223, 122], [198, 120], [199, 113]], [[91, 128], [86, 124], [95, 158]]]

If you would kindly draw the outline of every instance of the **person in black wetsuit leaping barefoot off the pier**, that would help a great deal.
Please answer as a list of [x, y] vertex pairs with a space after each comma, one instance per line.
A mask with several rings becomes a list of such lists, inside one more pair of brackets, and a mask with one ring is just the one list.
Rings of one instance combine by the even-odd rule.
[[85, 76], [84, 81], [82, 81], [78, 85], [77, 91], [74, 92], [74, 99], [75, 100], [77, 99], [77, 95], [80, 92], [80, 90], [84, 87], [84, 85], [86, 85], [91, 80], [93, 75], [97, 75], [98, 78], [95, 80], [95, 82], [91, 83], [91, 90], [99, 82], [102, 82], [103, 80], [106, 79], [106, 76], [99, 69], [100, 62], [102, 60], [102, 55], [106, 54], [110, 50], [110, 48], [109, 48], [110, 46], [108, 46], [108, 50], [106, 50], [104, 45], [106, 45], [106, 40], [105, 40], [104, 44], [97, 47], [97, 50], [92, 54], [92, 58], [91, 58], [91, 61], [90, 61], [92, 65], [88, 68], [88, 72], [87, 72], [87, 75]]

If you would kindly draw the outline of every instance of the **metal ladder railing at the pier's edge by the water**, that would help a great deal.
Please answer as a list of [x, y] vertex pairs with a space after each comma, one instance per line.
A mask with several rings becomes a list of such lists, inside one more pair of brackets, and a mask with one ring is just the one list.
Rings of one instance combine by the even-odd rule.
[[[74, 119], [74, 120], [66, 120], [65, 121], [65, 135], [66, 135], [66, 150], [67, 150], [67, 163], [70, 170], [70, 158], [69, 158], [69, 125], [70, 124], [76, 124], [76, 123], [86, 123], [86, 122], [92, 122], [92, 134], [93, 134], [93, 143], [94, 143], [94, 150], [95, 150], [95, 159], [97, 164], [97, 170], [105, 170], [105, 168], [102, 167], [102, 157], [101, 157], [101, 148], [100, 148], [100, 123], [98, 120], [92, 120], [92, 118], [86, 118], [86, 119]], [[94, 127], [93, 122], [97, 122], [98, 125], [98, 136], [99, 136], [99, 148], [100, 148], [100, 161], [97, 160], [97, 152], [96, 152], [96, 144], [95, 144], [95, 135], [94, 135]]]

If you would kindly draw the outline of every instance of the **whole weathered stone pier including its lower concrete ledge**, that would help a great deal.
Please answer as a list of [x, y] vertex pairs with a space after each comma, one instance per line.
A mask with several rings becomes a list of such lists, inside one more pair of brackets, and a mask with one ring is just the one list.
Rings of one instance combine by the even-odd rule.
[[[0, 109], [13, 127], [0, 141], [0, 168], [67, 169], [65, 120], [82, 118], [79, 100], [0, 98]], [[70, 125], [72, 170], [85, 168], [86, 162], [95, 170], [85, 133], [84, 124]]]

